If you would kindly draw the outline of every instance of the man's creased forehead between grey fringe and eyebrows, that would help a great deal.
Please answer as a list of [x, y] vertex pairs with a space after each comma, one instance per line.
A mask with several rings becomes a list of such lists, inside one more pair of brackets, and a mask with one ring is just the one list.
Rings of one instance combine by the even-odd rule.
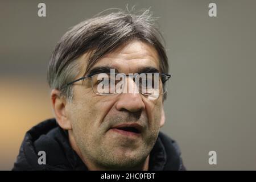
[[159, 56], [150, 44], [133, 40], [102, 57], [90, 69], [104, 66], [115, 68], [122, 73], [136, 73], [144, 67], [159, 70]]

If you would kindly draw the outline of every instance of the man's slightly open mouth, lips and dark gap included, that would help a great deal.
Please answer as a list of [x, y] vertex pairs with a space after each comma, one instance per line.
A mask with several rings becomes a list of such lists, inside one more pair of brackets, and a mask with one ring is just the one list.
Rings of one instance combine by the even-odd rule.
[[142, 133], [142, 126], [137, 123], [123, 123], [121, 125], [113, 126], [112, 131], [126, 136], [140, 136]]

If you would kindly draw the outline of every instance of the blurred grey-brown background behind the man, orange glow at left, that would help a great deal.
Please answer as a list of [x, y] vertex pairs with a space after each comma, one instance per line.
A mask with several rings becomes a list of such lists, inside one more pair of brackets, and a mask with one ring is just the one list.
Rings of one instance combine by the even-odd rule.
[[[38, 3], [46, 3], [46, 17]], [[209, 3], [217, 17], [209, 17]], [[256, 1], [0, 1], [0, 169], [24, 134], [53, 113], [49, 56], [69, 27], [126, 5], [154, 12], [170, 73], [163, 131], [188, 170], [256, 170]], [[217, 152], [209, 165], [208, 152]]]

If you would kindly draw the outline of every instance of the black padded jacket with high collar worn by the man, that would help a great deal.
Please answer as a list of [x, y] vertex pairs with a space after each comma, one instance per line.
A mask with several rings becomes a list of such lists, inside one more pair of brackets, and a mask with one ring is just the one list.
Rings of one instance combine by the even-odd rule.
[[[46, 164], [38, 164], [39, 151], [46, 152]], [[184, 170], [177, 143], [159, 133], [150, 153], [149, 170]], [[48, 119], [27, 131], [13, 170], [88, 170], [71, 148], [67, 131], [56, 119]]]

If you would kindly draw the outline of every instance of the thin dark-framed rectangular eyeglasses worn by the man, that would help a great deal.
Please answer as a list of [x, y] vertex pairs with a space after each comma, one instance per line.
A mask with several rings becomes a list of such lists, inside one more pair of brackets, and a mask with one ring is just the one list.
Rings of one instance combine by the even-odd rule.
[[[135, 82], [137, 89], [127, 90], [127, 79]], [[166, 73], [135, 73], [125, 75], [124, 73], [96, 73], [69, 82], [66, 86], [90, 78], [93, 92], [102, 96], [111, 96], [119, 93], [138, 92], [146, 96], [159, 96], [167, 92], [168, 80], [171, 75]], [[132, 87], [132, 86], [131, 86]]]

